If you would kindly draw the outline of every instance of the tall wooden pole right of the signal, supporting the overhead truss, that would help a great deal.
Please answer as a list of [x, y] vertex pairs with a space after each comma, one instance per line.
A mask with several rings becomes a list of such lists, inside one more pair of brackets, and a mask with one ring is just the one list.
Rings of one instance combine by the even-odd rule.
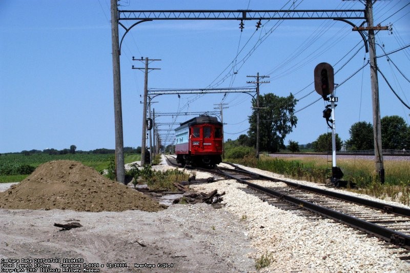
[[372, 0], [366, 0], [366, 14], [368, 27], [368, 43], [370, 58], [370, 79], [372, 86], [372, 105], [373, 105], [373, 134], [375, 145], [375, 165], [376, 173], [381, 183], [384, 183], [383, 151], [381, 143], [381, 122], [380, 122], [380, 103], [379, 103], [379, 82], [377, 79], [376, 45], [375, 32], [373, 27], [373, 4]]

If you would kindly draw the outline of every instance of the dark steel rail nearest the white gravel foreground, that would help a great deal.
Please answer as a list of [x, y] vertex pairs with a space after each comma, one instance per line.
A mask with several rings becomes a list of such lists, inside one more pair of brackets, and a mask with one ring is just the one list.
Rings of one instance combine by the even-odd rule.
[[[232, 169], [230, 169], [230, 170], [232, 170]], [[252, 172], [250, 172], [250, 173], [252, 173]], [[359, 218], [349, 216], [345, 213], [342, 213], [342, 212], [339, 212], [339, 211], [336, 211], [336, 210], [333, 210], [333, 209], [330, 209], [330, 208], [322, 207], [322, 206], [319, 206], [319, 205], [315, 205], [311, 202], [304, 201], [304, 200], [289, 196], [288, 194], [284, 194], [282, 192], [278, 192], [278, 191], [275, 191], [275, 190], [272, 190], [272, 189], [269, 189], [269, 188], [262, 187], [260, 185], [245, 181], [245, 180], [237, 178], [237, 177], [234, 177], [233, 175], [231, 175], [229, 173], [226, 173], [226, 172], [223, 172], [222, 170], [220, 170], [219, 174], [224, 175], [225, 177], [234, 179], [234, 180], [236, 180], [236, 181], [238, 181], [242, 184], [246, 184], [250, 188], [253, 188], [255, 190], [267, 193], [270, 196], [274, 196], [274, 197], [276, 197], [280, 200], [286, 200], [286, 201], [288, 201], [288, 202], [290, 202], [294, 205], [297, 205], [301, 208], [308, 209], [312, 212], [316, 212], [316, 213], [319, 213], [319, 214], [321, 214], [321, 215], [323, 215], [327, 218], [333, 219], [337, 222], [341, 222], [341, 223], [350, 225], [354, 228], [357, 228], [359, 230], [370, 233], [371, 235], [382, 238], [382, 239], [384, 239], [385, 241], [387, 241], [389, 243], [399, 245], [399, 246], [401, 246], [403, 248], [406, 248], [406, 249], [410, 249], [410, 236], [407, 236], [402, 232], [398, 232], [398, 231], [395, 231], [393, 229], [385, 228], [385, 227], [382, 227], [382, 226], [379, 226], [379, 225], [376, 225], [376, 224], [373, 224], [373, 223], [370, 223], [370, 222], [366, 222], [366, 221], [361, 220]], [[256, 173], [252, 173], [252, 174], [256, 174]], [[259, 175], [259, 177], [263, 178], [264, 175]], [[345, 194], [343, 194], [343, 195], [345, 195]]]

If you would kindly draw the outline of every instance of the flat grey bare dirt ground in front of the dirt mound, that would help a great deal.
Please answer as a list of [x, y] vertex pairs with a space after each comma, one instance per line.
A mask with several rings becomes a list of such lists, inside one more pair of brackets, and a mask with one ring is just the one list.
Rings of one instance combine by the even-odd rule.
[[[247, 272], [249, 241], [231, 214], [210, 205], [173, 205], [160, 212], [0, 209], [1, 259], [83, 259], [100, 272]], [[66, 231], [54, 223], [83, 225]], [[144, 246], [143, 246], [144, 245]], [[126, 268], [107, 268], [125, 263]], [[158, 264], [172, 267], [158, 268]], [[60, 268], [59, 263], [46, 263]], [[104, 264], [105, 267], [101, 267]], [[137, 268], [134, 264], [153, 264]]]

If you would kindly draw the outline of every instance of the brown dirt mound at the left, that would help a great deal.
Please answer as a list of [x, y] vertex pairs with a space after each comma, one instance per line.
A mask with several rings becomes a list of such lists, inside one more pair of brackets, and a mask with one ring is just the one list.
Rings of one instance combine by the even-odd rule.
[[144, 194], [109, 180], [76, 161], [51, 161], [19, 184], [0, 192], [0, 208], [71, 209], [76, 211], [158, 211]]

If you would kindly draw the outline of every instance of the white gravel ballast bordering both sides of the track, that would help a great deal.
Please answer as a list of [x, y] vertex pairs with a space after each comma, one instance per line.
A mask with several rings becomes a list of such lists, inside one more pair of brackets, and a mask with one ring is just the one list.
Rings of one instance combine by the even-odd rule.
[[[280, 177], [258, 169], [247, 169]], [[322, 187], [306, 181], [292, 181]], [[261, 271], [410, 271], [410, 263], [399, 259], [399, 257], [409, 256], [407, 250], [386, 244], [375, 237], [368, 237], [363, 232], [332, 220], [309, 221], [290, 211], [271, 206], [245, 193], [241, 190], [245, 186], [234, 180], [191, 187], [198, 191], [209, 192], [217, 189], [218, 192], [226, 192], [223, 197], [226, 206], [223, 209], [247, 223], [252, 246], [258, 250], [252, 258], [259, 259], [262, 255], [271, 257], [270, 266]], [[362, 197], [362, 194], [346, 193]], [[369, 199], [375, 200], [375, 198]], [[395, 202], [378, 201], [404, 206]]]

